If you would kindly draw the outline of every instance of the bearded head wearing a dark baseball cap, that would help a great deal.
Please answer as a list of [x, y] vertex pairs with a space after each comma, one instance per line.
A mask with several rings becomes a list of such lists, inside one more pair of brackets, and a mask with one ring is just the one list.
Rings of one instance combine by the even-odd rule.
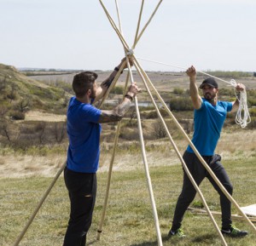
[[217, 100], [218, 83], [214, 78], [208, 77], [201, 83], [199, 88], [202, 89], [204, 98], [206, 100], [210, 102]]

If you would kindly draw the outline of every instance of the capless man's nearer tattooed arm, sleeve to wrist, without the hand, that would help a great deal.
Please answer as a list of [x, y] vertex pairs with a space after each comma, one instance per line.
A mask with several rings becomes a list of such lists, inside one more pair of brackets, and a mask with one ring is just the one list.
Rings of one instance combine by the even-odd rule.
[[125, 116], [125, 112], [128, 111], [130, 106], [131, 99], [125, 97], [125, 99], [119, 104], [119, 106], [116, 106], [113, 110], [102, 110], [102, 115], [100, 116], [99, 123], [120, 121]]

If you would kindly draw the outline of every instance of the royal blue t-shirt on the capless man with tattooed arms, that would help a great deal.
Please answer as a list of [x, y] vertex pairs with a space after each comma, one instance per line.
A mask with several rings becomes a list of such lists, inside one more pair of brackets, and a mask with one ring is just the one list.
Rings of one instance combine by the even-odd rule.
[[100, 157], [101, 110], [71, 98], [67, 108], [67, 169], [96, 173]]

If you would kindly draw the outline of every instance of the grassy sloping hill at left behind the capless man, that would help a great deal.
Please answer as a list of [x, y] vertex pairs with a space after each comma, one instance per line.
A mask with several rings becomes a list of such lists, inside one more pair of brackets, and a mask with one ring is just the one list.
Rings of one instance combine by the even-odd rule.
[[0, 104], [21, 112], [22, 107], [26, 106], [33, 110], [58, 113], [67, 105], [67, 100], [63, 89], [26, 77], [14, 66], [0, 64]]

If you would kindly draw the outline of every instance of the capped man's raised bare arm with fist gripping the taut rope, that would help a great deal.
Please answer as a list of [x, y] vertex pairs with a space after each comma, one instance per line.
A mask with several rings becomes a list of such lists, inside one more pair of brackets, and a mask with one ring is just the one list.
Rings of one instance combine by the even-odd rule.
[[192, 104], [195, 109], [201, 108], [201, 96], [198, 93], [198, 88], [196, 86], [195, 77], [196, 77], [196, 71], [194, 66], [190, 66], [188, 70], [186, 71], [187, 75], [189, 76], [189, 90], [190, 90], [190, 97], [192, 100]]

